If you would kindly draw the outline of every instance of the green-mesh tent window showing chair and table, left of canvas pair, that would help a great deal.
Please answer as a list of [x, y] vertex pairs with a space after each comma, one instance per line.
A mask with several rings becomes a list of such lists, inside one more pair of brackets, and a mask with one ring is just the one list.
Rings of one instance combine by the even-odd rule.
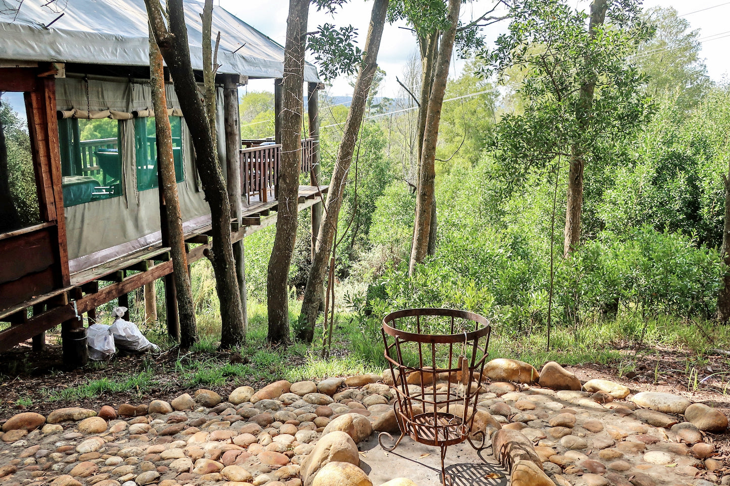
[[122, 195], [119, 122], [58, 120], [64, 207]]

